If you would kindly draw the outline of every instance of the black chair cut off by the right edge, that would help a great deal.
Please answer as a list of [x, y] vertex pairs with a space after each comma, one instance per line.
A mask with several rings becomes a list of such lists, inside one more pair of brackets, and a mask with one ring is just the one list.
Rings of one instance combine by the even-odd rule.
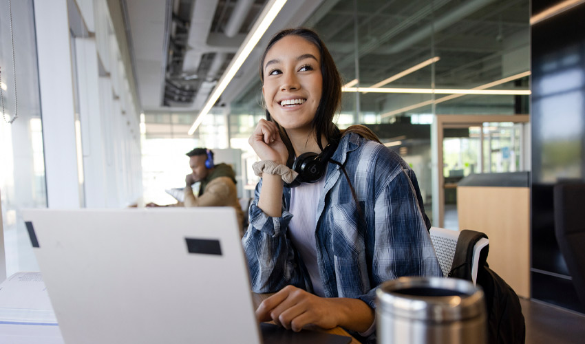
[[585, 307], [585, 184], [559, 184], [553, 191], [555, 237]]

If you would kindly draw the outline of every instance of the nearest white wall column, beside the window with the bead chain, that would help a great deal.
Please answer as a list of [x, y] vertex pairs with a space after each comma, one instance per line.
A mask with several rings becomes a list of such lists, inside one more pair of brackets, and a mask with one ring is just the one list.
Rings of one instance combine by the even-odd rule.
[[49, 208], [79, 208], [74, 88], [67, 0], [34, 0]]

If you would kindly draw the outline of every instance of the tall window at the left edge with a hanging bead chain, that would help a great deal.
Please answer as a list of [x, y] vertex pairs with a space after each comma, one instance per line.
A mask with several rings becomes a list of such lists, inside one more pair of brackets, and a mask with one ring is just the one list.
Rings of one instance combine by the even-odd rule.
[[[39, 270], [20, 211], [47, 206], [47, 191], [32, 1], [12, 1], [16, 71], [12, 67], [9, 15], [8, 0], [0, 0], [0, 86], [6, 113], [0, 118], [0, 197], [5, 241], [0, 252], [6, 251], [6, 272], [11, 275], [19, 270]], [[8, 124], [6, 120], [17, 110], [18, 118]]]

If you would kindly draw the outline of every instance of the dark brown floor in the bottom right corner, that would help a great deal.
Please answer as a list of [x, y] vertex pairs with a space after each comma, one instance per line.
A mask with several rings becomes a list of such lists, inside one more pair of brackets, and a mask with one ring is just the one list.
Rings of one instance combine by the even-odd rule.
[[520, 298], [526, 344], [585, 343], [585, 315]]

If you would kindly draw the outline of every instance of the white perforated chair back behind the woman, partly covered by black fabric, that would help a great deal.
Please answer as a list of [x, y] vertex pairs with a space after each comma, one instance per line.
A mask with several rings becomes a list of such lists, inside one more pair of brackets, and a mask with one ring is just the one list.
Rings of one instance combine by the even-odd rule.
[[[431, 227], [429, 232], [431, 235], [431, 241], [433, 242], [433, 246], [437, 254], [440, 270], [443, 271], [443, 275], [445, 277], [448, 277], [449, 272], [451, 272], [453, 260], [455, 258], [457, 239], [459, 238], [460, 231]], [[477, 282], [480, 252], [482, 248], [485, 248], [485, 246], [488, 244], [489, 239], [482, 238], [474, 246], [473, 262], [471, 264], [471, 281], [474, 282], [474, 286]]]

